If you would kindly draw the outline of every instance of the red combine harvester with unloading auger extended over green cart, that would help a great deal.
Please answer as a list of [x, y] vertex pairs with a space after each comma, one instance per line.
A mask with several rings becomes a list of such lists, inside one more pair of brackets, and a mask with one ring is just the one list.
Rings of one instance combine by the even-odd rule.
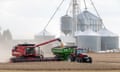
[[[42, 54], [37, 54], [36, 48], [40, 50], [40, 46], [49, 44], [51, 42], [58, 41], [63, 46], [63, 43], [59, 38], [49, 40], [40, 44], [18, 44], [12, 49], [13, 58], [10, 59], [11, 62], [31, 62], [31, 61], [57, 61], [57, 58], [44, 58]], [[40, 51], [38, 51], [40, 52]]]

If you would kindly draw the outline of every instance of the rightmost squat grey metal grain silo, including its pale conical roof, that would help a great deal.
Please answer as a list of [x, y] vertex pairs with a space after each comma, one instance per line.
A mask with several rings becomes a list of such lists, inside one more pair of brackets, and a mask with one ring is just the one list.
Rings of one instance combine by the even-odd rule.
[[101, 36], [101, 50], [112, 50], [119, 48], [119, 37], [106, 28], [98, 32]]

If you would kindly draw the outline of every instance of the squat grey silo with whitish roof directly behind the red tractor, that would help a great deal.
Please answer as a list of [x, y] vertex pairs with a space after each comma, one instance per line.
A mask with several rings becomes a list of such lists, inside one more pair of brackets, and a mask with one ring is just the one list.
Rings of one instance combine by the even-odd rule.
[[101, 50], [101, 38], [99, 34], [88, 29], [76, 34], [76, 42], [79, 48], [87, 48], [90, 51], [97, 52]]

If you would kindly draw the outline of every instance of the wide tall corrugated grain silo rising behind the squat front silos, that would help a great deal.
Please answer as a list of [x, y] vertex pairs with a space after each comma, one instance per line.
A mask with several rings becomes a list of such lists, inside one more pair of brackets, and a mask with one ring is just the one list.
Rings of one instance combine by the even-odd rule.
[[77, 29], [78, 31], [85, 31], [88, 27], [97, 32], [102, 28], [102, 21], [99, 17], [85, 10], [78, 15]]

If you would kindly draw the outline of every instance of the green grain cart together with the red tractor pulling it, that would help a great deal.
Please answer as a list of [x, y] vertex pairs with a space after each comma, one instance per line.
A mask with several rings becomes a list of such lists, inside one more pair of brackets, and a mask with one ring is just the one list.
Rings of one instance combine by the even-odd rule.
[[85, 48], [77, 48], [76, 46], [52, 48], [55, 58], [60, 61], [92, 63], [92, 58], [85, 54], [87, 51]]

